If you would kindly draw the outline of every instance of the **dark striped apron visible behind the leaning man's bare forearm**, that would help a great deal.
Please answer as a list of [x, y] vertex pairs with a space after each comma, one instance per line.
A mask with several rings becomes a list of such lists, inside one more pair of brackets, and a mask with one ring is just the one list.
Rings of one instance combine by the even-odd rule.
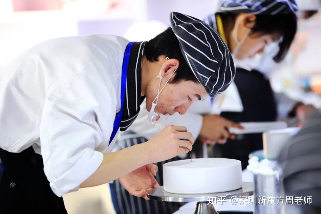
[[[131, 131], [122, 132], [120, 133], [120, 137], [117, 139], [112, 152], [125, 149], [126, 147], [143, 143], [145, 141], [147, 141], [145, 138], [140, 137], [138, 134]], [[160, 185], [163, 185], [163, 164], [174, 160], [179, 160], [179, 158], [175, 157], [167, 161], [157, 163], [158, 172], [156, 180]], [[117, 214], [171, 214], [176, 212], [182, 205], [181, 203], [176, 202], [145, 200], [144, 198], [133, 196], [126, 191], [126, 189], [119, 183], [118, 179], [109, 184], [109, 186], [114, 209]]]

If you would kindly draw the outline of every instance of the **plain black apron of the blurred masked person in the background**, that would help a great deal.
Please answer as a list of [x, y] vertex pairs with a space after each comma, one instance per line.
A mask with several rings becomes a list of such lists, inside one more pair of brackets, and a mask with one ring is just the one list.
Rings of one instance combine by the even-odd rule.
[[[221, 116], [238, 123], [276, 120], [274, 92], [270, 81], [262, 73], [237, 68], [234, 82], [239, 91], [243, 112], [222, 112]], [[245, 134], [237, 136], [237, 139], [228, 139], [225, 144], [215, 144], [215, 154], [210, 156], [238, 159], [242, 162], [242, 169], [245, 169], [249, 154], [263, 149], [262, 133]]]

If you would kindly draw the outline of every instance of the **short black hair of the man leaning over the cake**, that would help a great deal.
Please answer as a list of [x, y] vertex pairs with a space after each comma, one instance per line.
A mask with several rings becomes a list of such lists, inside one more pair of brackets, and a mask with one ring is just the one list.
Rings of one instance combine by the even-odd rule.
[[178, 83], [182, 80], [199, 82], [184, 59], [178, 39], [170, 27], [146, 42], [144, 47], [144, 56], [148, 61], [157, 62], [158, 57], [162, 55], [179, 61], [174, 79], [170, 83]]

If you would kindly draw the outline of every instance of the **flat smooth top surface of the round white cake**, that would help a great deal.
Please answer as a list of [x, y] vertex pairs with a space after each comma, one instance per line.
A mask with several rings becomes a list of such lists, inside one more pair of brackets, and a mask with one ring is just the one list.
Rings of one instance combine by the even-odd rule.
[[173, 168], [220, 168], [241, 165], [241, 161], [228, 158], [194, 158], [168, 162], [163, 167]]

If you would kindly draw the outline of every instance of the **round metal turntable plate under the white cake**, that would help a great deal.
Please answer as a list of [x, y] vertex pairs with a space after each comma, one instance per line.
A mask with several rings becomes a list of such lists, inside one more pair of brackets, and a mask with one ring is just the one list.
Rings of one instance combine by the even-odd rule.
[[173, 194], [164, 191], [164, 187], [160, 186], [153, 188], [147, 193], [147, 197], [158, 201], [169, 202], [190, 202], [203, 201], [208, 202], [208, 197], [225, 196], [225, 199], [230, 199], [232, 196], [251, 196], [253, 195], [254, 185], [250, 182], [243, 182], [243, 187], [238, 190], [222, 193], [205, 193], [205, 194]]

